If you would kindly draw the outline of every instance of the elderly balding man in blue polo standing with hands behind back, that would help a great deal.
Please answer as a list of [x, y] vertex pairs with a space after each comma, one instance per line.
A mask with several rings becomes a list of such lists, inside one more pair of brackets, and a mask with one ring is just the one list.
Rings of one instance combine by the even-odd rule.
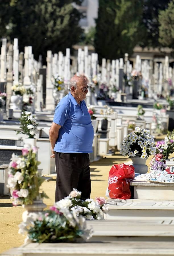
[[56, 164], [55, 202], [68, 196], [73, 188], [90, 198], [89, 154], [92, 152], [94, 129], [84, 99], [89, 86], [82, 77], [71, 78], [66, 95], [55, 108], [49, 129], [52, 156]]

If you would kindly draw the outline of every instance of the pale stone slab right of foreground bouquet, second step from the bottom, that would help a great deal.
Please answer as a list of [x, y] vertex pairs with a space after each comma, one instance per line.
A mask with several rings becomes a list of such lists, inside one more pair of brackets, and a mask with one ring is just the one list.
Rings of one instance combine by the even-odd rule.
[[174, 218], [171, 220], [94, 220], [87, 221], [87, 224], [94, 230], [90, 241], [116, 241], [117, 237], [122, 237], [119, 240], [132, 237], [134, 241], [139, 238], [144, 241], [174, 240]]

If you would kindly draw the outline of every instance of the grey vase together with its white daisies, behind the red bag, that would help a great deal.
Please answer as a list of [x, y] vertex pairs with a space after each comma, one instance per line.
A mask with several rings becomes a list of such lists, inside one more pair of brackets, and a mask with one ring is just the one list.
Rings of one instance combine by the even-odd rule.
[[156, 153], [154, 145], [154, 137], [150, 135], [150, 131], [137, 126], [134, 133], [124, 137], [120, 153], [132, 159], [136, 173], [143, 174], [148, 171], [146, 159]]

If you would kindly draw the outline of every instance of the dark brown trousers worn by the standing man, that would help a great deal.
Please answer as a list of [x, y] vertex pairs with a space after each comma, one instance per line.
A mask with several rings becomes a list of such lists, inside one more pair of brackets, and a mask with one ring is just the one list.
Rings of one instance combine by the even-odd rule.
[[55, 202], [69, 196], [73, 188], [82, 192], [81, 198], [90, 198], [91, 179], [89, 154], [55, 152]]

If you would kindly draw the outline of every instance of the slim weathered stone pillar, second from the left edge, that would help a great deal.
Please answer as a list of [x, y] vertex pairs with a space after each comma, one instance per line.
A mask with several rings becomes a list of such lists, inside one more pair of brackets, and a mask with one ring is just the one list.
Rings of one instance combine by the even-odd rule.
[[10, 104], [10, 97], [12, 96], [12, 90], [11, 87], [13, 85], [13, 45], [9, 45], [9, 49], [7, 52], [8, 55], [8, 71], [7, 71], [7, 86], [6, 86], [6, 93], [7, 93], [7, 99], [6, 99], [6, 115], [9, 116], [9, 104]]

